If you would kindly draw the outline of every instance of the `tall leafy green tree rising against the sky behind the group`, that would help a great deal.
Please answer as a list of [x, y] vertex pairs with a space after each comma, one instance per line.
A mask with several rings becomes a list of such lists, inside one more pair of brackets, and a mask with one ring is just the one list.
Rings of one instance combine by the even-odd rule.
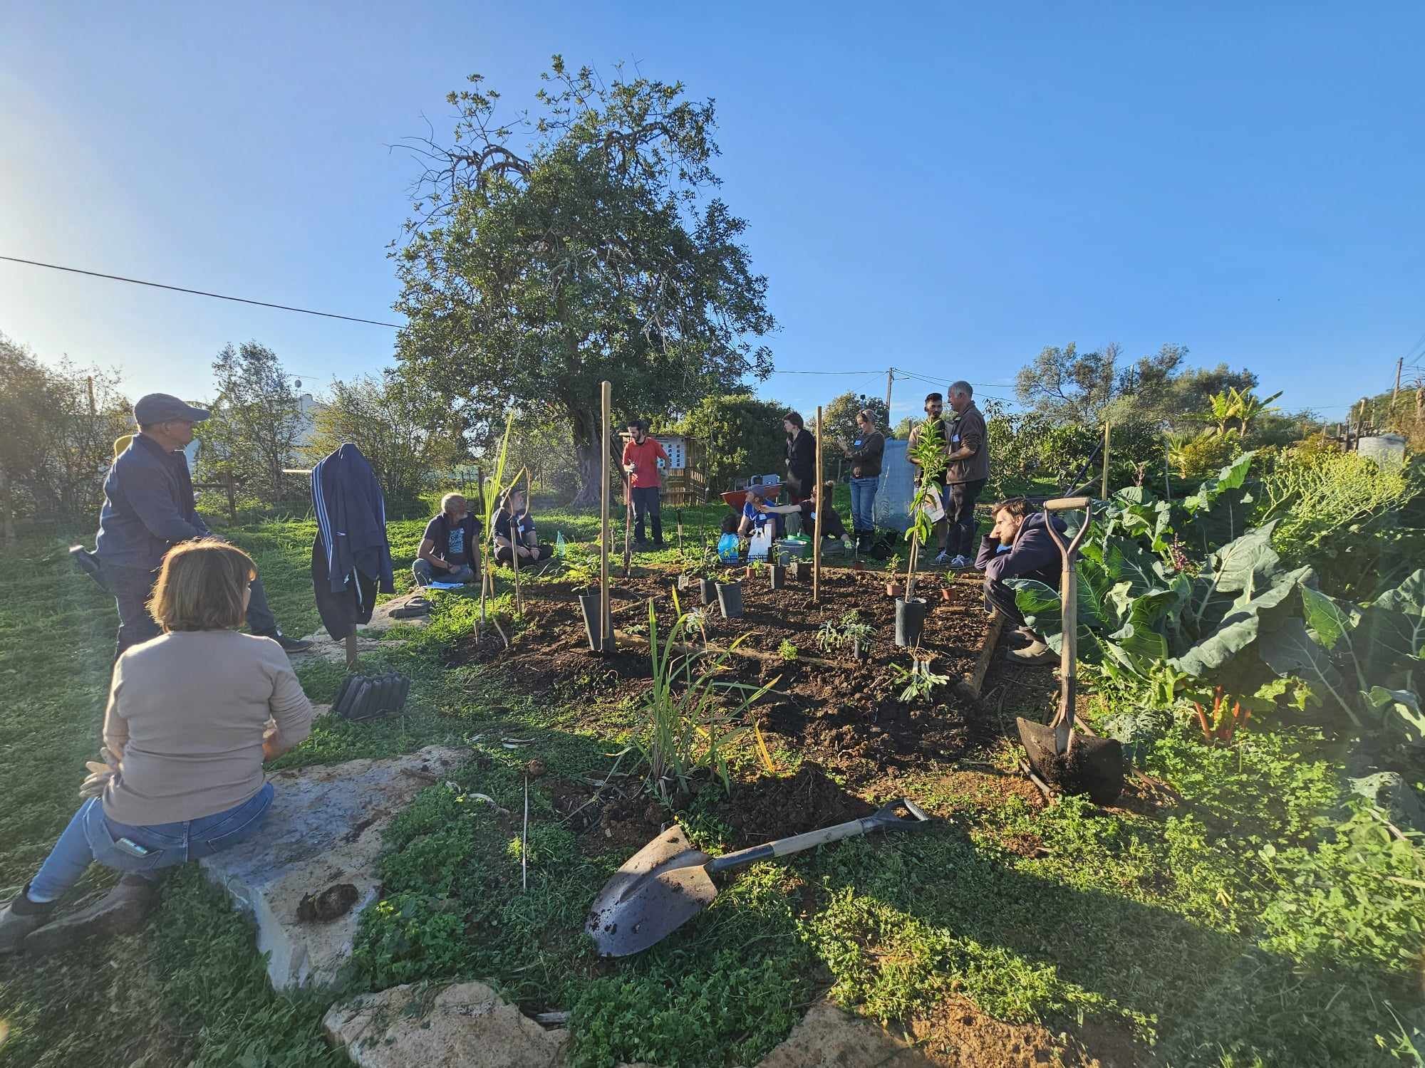
[[[409, 316], [398, 356], [476, 422], [516, 403], [570, 423], [576, 503], [597, 493], [598, 383], [616, 417], [677, 416], [765, 377], [774, 329], [747, 224], [708, 189], [712, 103], [683, 85], [604, 81], [554, 57], [534, 112], [503, 122], [480, 75], [452, 93], [453, 144], [425, 161], [393, 246]], [[529, 141], [526, 150], [520, 141]]]

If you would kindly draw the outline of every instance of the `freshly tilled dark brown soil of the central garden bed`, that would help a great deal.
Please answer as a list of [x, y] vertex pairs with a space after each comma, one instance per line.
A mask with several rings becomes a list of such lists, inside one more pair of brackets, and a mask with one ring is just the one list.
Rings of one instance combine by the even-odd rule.
[[[742, 581], [741, 619], [724, 619], [715, 604], [698, 602], [695, 588], [677, 591], [675, 585], [671, 572], [616, 580], [610, 598], [618, 648], [598, 655], [589, 649], [574, 591], [566, 584], [532, 584], [524, 591], [523, 619], [513, 631], [510, 621], [502, 622], [509, 649], [487, 627], [479, 639], [472, 634], [453, 649], [452, 662], [499, 665], [517, 689], [560, 701], [637, 696], [651, 679], [648, 602], [657, 611], [658, 639], [665, 641], [677, 597], [684, 612], [698, 612], [680, 641], [718, 649], [737, 642], [727, 658], [728, 676], [771, 686], [754, 706], [768, 743], [778, 735], [849, 783], [886, 769], [955, 759], [992, 733], [978, 709], [976, 688], [990, 652], [986, 644], [998, 631], [973, 582], [928, 578], [918, 584], [929, 604], [919, 655], [948, 681], [911, 701], [901, 701], [905, 681], [895, 671], [909, 666], [911, 652], [893, 644], [895, 601], [885, 594], [884, 574], [825, 571], [814, 602], [809, 581], [771, 590], [765, 572], [754, 572]], [[851, 611], [874, 628], [861, 661], [817, 642], [822, 624]]]

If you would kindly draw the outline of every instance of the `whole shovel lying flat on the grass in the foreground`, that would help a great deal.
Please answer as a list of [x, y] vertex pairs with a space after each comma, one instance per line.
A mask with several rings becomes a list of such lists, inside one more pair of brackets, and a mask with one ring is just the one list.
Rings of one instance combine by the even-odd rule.
[[[909, 815], [899, 816], [902, 809]], [[693, 849], [683, 827], [674, 824], [610, 876], [589, 910], [584, 930], [594, 940], [600, 956], [627, 957], [668, 937], [707, 909], [717, 897], [717, 886], [710, 876], [718, 871], [730, 871], [754, 860], [785, 857], [872, 830], [923, 827], [929, 819], [915, 802], [902, 797], [882, 805], [862, 819], [740, 849], [721, 857]]]

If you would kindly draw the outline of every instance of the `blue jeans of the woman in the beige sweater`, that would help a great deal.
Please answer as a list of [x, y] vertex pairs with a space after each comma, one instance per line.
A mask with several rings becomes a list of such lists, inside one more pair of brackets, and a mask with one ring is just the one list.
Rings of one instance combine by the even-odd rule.
[[181, 823], [134, 827], [111, 820], [104, 815], [103, 799], [90, 797], [74, 813], [48, 859], [30, 880], [28, 897], [40, 904], [60, 900], [94, 862], [142, 876], [201, 860], [252, 837], [269, 807], [272, 783], [264, 783], [261, 790], [227, 812]]

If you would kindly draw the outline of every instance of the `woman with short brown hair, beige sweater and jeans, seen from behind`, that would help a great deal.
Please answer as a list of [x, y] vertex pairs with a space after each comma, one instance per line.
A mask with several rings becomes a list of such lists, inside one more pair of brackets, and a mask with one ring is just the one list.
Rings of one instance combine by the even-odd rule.
[[[88, 765], [84, 803], [34, 879], [0, 910], [0, 954], [131, 930], [152, 907], [162, 869], [256, 833], [272, 805], [262, 763], [306, 738], [312, 723], [282, 646], [238, 632], [256, 574], [247, 553], [215, 538], [185, 541], [164, 557], [148, 604], [164, 632], [114, 664], [103, 763]], [[50, 924], [56, 903], [94, 862], [123, 871], [118, 886]]]

